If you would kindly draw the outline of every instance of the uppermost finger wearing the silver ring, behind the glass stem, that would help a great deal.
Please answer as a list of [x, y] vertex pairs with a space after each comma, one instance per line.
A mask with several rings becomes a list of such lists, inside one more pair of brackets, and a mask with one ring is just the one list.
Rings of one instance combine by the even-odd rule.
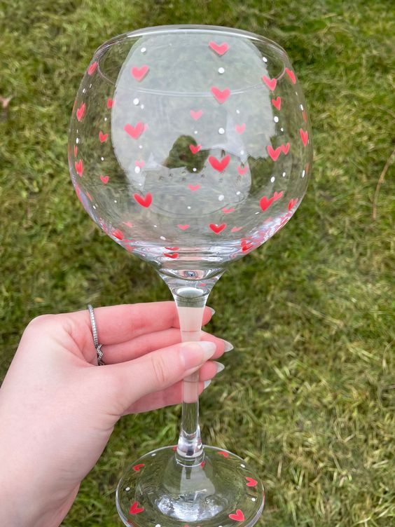
[[[202, 324], [207, 324], [214, 310], [206, 307]], [[88, 310], [69, 313], [76, 326], [76, 337], [90, 343], [92, 327]], [[174, 302], [148, 302], [95, 308], [99, 343], [109, 345], [129, 341], [131, 338], [179, 327], [179, 317]]]

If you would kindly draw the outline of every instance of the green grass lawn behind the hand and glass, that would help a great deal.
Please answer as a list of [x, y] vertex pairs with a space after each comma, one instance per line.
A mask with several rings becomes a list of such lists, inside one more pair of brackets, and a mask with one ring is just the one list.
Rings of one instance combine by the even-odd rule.
[[[93, 51], [116, 34], [179, 22], [265, 34], [289, 52], [305, 89], [314, 170], [296, 217], [212, 292], [210, 331], [235, 351], [202, 396], [202, 433], [261, 473], [260, 526], [391, 525], [393, 163], [372, 220], [394, 149], [391, 1], [1, 4], [0, 95], [13, 100], [0, 122], [0, 374], [36, 315], [169, 298], [146, 264], [99, 233], [69, 181], [69, 116]], [[179, 415], [123, 418], [63, 526], [120, 526], [122, 468], [174, 442]]]

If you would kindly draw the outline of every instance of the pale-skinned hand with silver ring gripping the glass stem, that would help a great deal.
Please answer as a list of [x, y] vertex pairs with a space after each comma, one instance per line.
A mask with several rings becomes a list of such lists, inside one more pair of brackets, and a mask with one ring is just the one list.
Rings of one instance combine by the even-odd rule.
[[[215, 376], [226, 341], [181, 343], [173, 302], [42, 315], [25, 329], [0, 389], [0, 525], [57, 527], [121, 416], [181, 402], [182, 379]], [[203, 324], [212, 317], [205, 308]], [[211, 359], [211, 360], [209, 360]]]

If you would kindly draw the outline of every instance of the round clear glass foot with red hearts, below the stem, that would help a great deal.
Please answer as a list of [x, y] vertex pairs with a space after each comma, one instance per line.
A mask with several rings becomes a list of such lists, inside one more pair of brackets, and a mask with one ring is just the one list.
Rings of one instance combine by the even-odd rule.
[[116, 506], [126, 526], [247, 527], [265, 505], [263, 485], [242, 458], [205, 446], [198, 465], [183, 465], [176, 446], [136, 460], [123, 474]]

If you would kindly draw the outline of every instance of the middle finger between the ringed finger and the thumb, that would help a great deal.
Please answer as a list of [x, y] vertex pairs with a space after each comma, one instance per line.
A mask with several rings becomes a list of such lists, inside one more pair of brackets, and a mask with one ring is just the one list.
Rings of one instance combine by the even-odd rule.
[[[221, 357], [230, 344], [222, 338], [210, 335], [202, 331], [202, 341], [214, 342], [216, 345], [216, 353], [214, 359]], [[132, 340], [120, 344], [102, 346], [103, 360], [106, 364], [116, 364], [118, 362], [126, 362], [128, 360], [137, 359], [141, 355], [146, 355], [151, 351], [159, 348], [167, 348], [169, 345], [174, 345], [181, 342], [181, 333], [179, 329], [171, 328], [163, 331], [155, 331], [146, 335], [141, 335]]]

